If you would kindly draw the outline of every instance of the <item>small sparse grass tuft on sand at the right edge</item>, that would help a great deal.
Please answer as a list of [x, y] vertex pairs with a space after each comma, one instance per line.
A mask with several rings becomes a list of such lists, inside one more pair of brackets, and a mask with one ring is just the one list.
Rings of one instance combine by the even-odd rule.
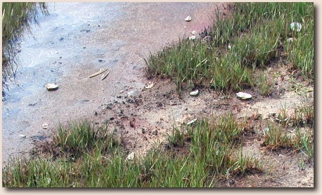
[[[288, 115], [286, 105], [281, 106], [279, 122], [268, 124], [262, 146], [270, 150], [290, 149], [302, 152], [310, 162], [314, 155], [314, 107], [306, 98], [295, 108], [293, 117]], [[287, 120], [285, 120], [287, 119]], [[301, 130], [302, 129], [302, 130]], [[290, 133], [292, 132], [292, 133]]]

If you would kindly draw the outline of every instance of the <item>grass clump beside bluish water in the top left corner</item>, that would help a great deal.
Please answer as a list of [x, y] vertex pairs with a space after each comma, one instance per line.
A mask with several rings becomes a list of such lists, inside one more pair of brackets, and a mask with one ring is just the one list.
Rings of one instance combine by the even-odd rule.
[[2, 3], [2, 87], [7, 86], [8, 77], [15, 76], [19, 63], [17, 60], [19, 39], [31, 34], [31, 24], [36, 22], [39, 13], [48, 14], [47, 3]]

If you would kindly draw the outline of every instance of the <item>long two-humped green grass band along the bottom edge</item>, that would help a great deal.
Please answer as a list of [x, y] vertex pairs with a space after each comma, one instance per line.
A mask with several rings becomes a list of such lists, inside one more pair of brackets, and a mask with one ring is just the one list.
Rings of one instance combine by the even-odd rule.
[[57, 147], [58, 157], [38, 152], [15, 161], [2, 170], [3, 187], [213, 187], [227, 173], [261, 172], [256, 159], [234, 152], [241, 150], [241, 128], [233, 115], [186, 128], [185, 133], [174, 129], [168, 135], [180, 133], [168, 138], [170, 147], [155, 147], [141, 159], [126, 160], [122, 145], [114, 143], [116, 135], [97, 136], [106, 127], [94, 129], [87, 120], [59, 125], [53, 143], [45, 144]]

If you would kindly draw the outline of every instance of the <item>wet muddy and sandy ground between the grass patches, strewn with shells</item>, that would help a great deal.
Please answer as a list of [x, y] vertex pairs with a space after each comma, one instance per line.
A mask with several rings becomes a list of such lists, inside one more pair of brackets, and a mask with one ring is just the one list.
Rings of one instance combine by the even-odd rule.
[[[210, 88], [199, 89], [198, 96], [184, 90], [180, 98], [172, 80], [147, 80], [142, 57], [191, 36], [191, 31], [203, 31], [212, 24], [217, 6], [226, 11], [221, 4], [49, 3], [50, 15], [38, 18], [35, 39], [22, 41], [21, 67], [13, 80], [19, 86], [12, 85], [2, 104], [2, 163], [28, 155], [35, 144], [51, 138], [59, 122], [70, 120], [109, 122], [109, 128], [123, 135], [126, 150], [144, 155], [174, 125], [195, 118], [232, 111], [237, 119], [246, 116], [256, 124], [252, 116], [260, 113], [264, 120], [273, 120], [272, 113], [279, 113], [281, 106], [291, 115], [304, 97], [290, 90], [288, 70], [279, 65], [269, 69], [284, 75], [276, 81], [274, 93], [263, 97], [249, 90], [250, 101]], [[191, 22], [184, 21], [188, 15]], [[100, 75], [89, 78], [100, 68], [110, 72], [104, 80]], [[47, 91], [48, 82], [57, 83], [59, 89]], [[145, 89], [148, 82], [154, 87]], [[49, 124], [47, 129], [44, 123]], [[260, 133], [245, 136], [244, 149], [267, 161], [266, 172], [233, 178], [230, 187], [314, 187], [313, 162], [301, 170], [302, 155], [266, 151]]]

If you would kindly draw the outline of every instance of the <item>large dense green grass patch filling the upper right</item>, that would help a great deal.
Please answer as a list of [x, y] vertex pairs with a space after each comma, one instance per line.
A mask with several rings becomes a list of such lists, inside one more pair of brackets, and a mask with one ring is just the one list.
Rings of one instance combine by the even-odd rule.
[[[314, 79], [314, 8], [313, 3], [228, 3], [230, 17], [217, 11], [217, 20], [200, 38], [182, 38], [145, 59], [147, 76], [171, 78], [177, 92], [205, 86], [224, 92], [265, 87], [271, 78], [260, 77], [255, 69], [265, 69], [272, 62], [286, 59], [291, 71], [298, 70], [307, 79]], [[301, 31], [293, 31], [291, 22], [301, 22]], [[211, 38], [205, 43], [205, 36]], [[297, 41], [288, 41], [293, 38]], [[230, 45], [230, 49], [227, 45]]]

